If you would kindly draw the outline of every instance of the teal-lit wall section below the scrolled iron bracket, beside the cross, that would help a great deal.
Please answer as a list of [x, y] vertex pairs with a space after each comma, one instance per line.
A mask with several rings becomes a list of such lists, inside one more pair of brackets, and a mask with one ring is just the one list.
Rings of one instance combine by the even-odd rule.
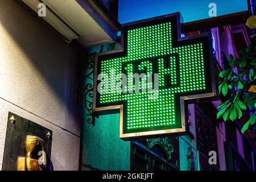
[[119, 138], [119, 114], [96, 118], [95, 126], [84, 122], [85, 170], [130, 170], [130, 142]]

